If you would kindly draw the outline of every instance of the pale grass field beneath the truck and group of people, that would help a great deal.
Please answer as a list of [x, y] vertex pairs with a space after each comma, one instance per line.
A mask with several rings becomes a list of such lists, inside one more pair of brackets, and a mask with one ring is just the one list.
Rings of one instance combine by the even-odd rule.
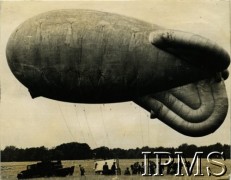
[[[189, 159], [191, 161], [191, 159]], [[126, 169], [126, 167], [130, 167], [131, 164], [133, 164], [134, 162], [142, 162], [143, 159], [120, 159], [119, 160], [119, 165], [122, 171], [122, 174], [124, 173], [124, 170]], [[164, 161], [164, 160], [163, 160]], [[221, 160], [219, 160], [221, 161]], [[21, 172], [22, 170], [26, 169], [26, 166], [29, 164], [33, 164], [36, 162], [2, 162], [1, 163], [1, 179], [17, 179], [17, 174], [19, 172]], [[225, 161], [225, 166], [227, 167], [227, 172], [224, 176], [221, 177], [213, 177], [213, 176], [208, 176], [207, 172], [206, 172], [206, 167], [209, 166], [211, 168], [211, 170], [214, 173], [219, 173], [221, 172], [221, 168], [211, 165], [207, 162], [206, 159], [202, 159], [202, 173], [204, 174], [204, 176], [197, 176], [194, 177], [192, 176], [186, 176], [186, 173], [183, 172], [185, 174], [185, 176], [183, 177], [176, 177], [174, 175], [166, 175], [166, 171], [164, 171], [164, 176], [151, 176], [151, 177], [143, 177], [141, 175], [131, 175], [131, 176], [124, 176], [124, 175], [118, 175], [118, 176], [103, 176], [103, 175], [95, 175], [94, 174], [94, 160], [74, 160], [74, 161], [62, 161], [64, 167], [68, 167], [68, 166], [75, 166], [75, 171], [73, 176], [69, 176], [69, 177], [65, 177], [65, 178], [39, 178], [41, 179], [93, 179], [93, 180], [100, 180], [100, 179], [128, 179], [128, 180], [138, 180], [138, 179], [179, 179], [179, 180], [183, 180], [183, 179], [229, 179], [229, 174], [231, 173], [231, 160], [226, 160]], [[86, 176], [85, 177], [80, 177], [79, 175], [79, 164], [81, 164], [86, 171]], [[194, 167], [193, 172], [196, 172], [196, 166]]]

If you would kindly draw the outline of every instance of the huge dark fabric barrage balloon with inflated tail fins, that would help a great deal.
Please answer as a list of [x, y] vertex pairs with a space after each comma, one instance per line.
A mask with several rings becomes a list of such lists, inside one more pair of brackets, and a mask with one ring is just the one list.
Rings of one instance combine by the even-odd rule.
[[229, 55], [199, 35], [111, 13], [57, 10], [21, 24], [6, 54], [33, 98], [134, 101], [189, 136], [214, 132], [227, 114]]

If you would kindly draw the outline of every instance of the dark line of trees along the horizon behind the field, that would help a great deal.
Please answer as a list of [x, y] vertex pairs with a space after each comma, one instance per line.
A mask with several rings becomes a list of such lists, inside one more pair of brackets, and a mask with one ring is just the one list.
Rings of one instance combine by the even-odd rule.
[[142, 147], [136, 149], [121, 149], [102, 146], [91, 149], [86, 143], [71, 142], [58, 145], [54, 148], [33, 147], [33, 148], [17, 148], [15, 146], [7, 146], [1, 150], [1, 161], [41, 161], [41, 160], [84, 160], [84, 159], [139, 159], [143, 158], [144, 151], [165, 151], [174, 154], [176, 151], [182, 151], [186, 158], [193, 158], [196, 151], [204, 152], [204, 158], [212, 151], [224, 152], [226, 159], [230, 159], [230, 145], [216, 143], [210, 146], [200, 146], [182, 144], [177, 148], [173, 147]]

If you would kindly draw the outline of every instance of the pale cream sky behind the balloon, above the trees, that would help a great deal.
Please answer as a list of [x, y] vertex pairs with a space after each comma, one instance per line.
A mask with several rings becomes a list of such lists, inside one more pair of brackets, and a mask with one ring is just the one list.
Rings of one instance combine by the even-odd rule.
[[[62, 143], [87, 143], [93, 148], [177, 147], [182, 143], [230, 144], [230, 113], [213, 134], [200, 138], [181, 135], [133, 102], [74, 104], [43, 97], [32, 99], [11, 73], [5, 57], [10, 34], [37, 14], [56, 9], [93, 9], [134, 17], [168, 29], [207, 37], [230, 54], [229, 2], [219, 0], [153, 1], [19, 1], [1, 2], [0, 137], [1, 149]], [[230, 78], [226, 81], [230, 97]], [[230, 102], [230, 99], [229, 99]]]

